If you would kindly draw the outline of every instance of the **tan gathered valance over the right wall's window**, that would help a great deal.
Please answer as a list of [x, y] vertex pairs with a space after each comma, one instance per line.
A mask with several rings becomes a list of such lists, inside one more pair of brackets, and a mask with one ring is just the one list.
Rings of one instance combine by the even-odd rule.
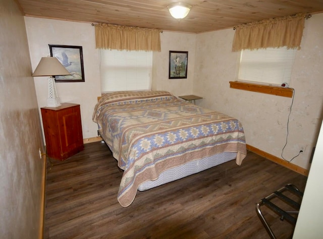
[[238, 25], [232, 51], [281, 47], [300, 49], [306, 13]]

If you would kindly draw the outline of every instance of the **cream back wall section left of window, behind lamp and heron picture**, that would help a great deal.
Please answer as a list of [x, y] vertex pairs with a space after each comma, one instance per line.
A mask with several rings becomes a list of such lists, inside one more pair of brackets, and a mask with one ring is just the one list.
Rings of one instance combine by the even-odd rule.
[[[82, 46], [85, 82], [57, 83], [61, 102], [80, 104], [83, 138], [97, 136], [97, 125], [92, 122], [97, 96], [101, 95], [99, 57], [95, 49], [94, 27], [77, 23], [25, 17], [32, 70], [43, 56], [49, 56], [48, 44]], [[34, 77], [39, 107], [47, 104], [47, 77]], [[39, 109], [40, 113], [40, 109]]]

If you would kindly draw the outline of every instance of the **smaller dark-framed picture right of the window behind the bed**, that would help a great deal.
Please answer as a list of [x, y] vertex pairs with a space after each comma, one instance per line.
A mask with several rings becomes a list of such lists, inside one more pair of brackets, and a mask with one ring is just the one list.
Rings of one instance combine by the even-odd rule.
[[169, 79], [187, 78], [188, 51], [170, 50]]

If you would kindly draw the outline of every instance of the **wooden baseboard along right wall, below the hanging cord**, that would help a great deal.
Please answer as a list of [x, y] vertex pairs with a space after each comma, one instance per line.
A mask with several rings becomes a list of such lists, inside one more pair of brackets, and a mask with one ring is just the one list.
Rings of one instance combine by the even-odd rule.
[[308, 176], [308, 171], [309, 170], [307, 170], [305, 168], [302, 168], [300, 166], [297, 166], [297, 165], [295, 165], [293, 163], [290, 163], [290, 162], [288, 162], [288, 161], [286, 161], [284, 159], [281, 159], [279, 157], [276, 157], [275, 155], [266, 153], [266, 152], [264, 152], [264, 151], [262, 151], [260, 149], [257, 149], [257, 148], [255, 148], [255, 147], [253, 147], [251, 145], [248, 145], [248, 144], [247, 144], [247, 150], [249, 150], [249, 151], [251, 151], [251, 152], [253, 152], [255, 154], [258, 154], [258, 155], [260, 155], [260, 156], [262, 156], [262, 157], [264, 157], [266, 159], [269, 159], [269, 160], [271, 160], [271, 161], [273, 161], [273, 162], [275, 162], [275, 163], [277, 163], [279, 165], [287, 167], [287, 168], [289, 168], [289, 169], [291, 169], [291, 170], [293, 170], [295, 172], [298, 172], [298, 173], [300, 173], [300, 174], [302, 174], [304, 176]]

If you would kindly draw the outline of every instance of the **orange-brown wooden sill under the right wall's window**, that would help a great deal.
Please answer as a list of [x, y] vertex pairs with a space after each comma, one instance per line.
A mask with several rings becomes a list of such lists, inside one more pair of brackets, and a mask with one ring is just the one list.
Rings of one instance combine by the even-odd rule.
[[292, 88], [283, 88], [278, 86], [266, 86], [253, 83], [246, 83], [241, 81], [230, 81], [230, 88], [239, 90], [248, 90], [253, 92], [278, 95], [283, 97], [293, 97], [294, 90]]

